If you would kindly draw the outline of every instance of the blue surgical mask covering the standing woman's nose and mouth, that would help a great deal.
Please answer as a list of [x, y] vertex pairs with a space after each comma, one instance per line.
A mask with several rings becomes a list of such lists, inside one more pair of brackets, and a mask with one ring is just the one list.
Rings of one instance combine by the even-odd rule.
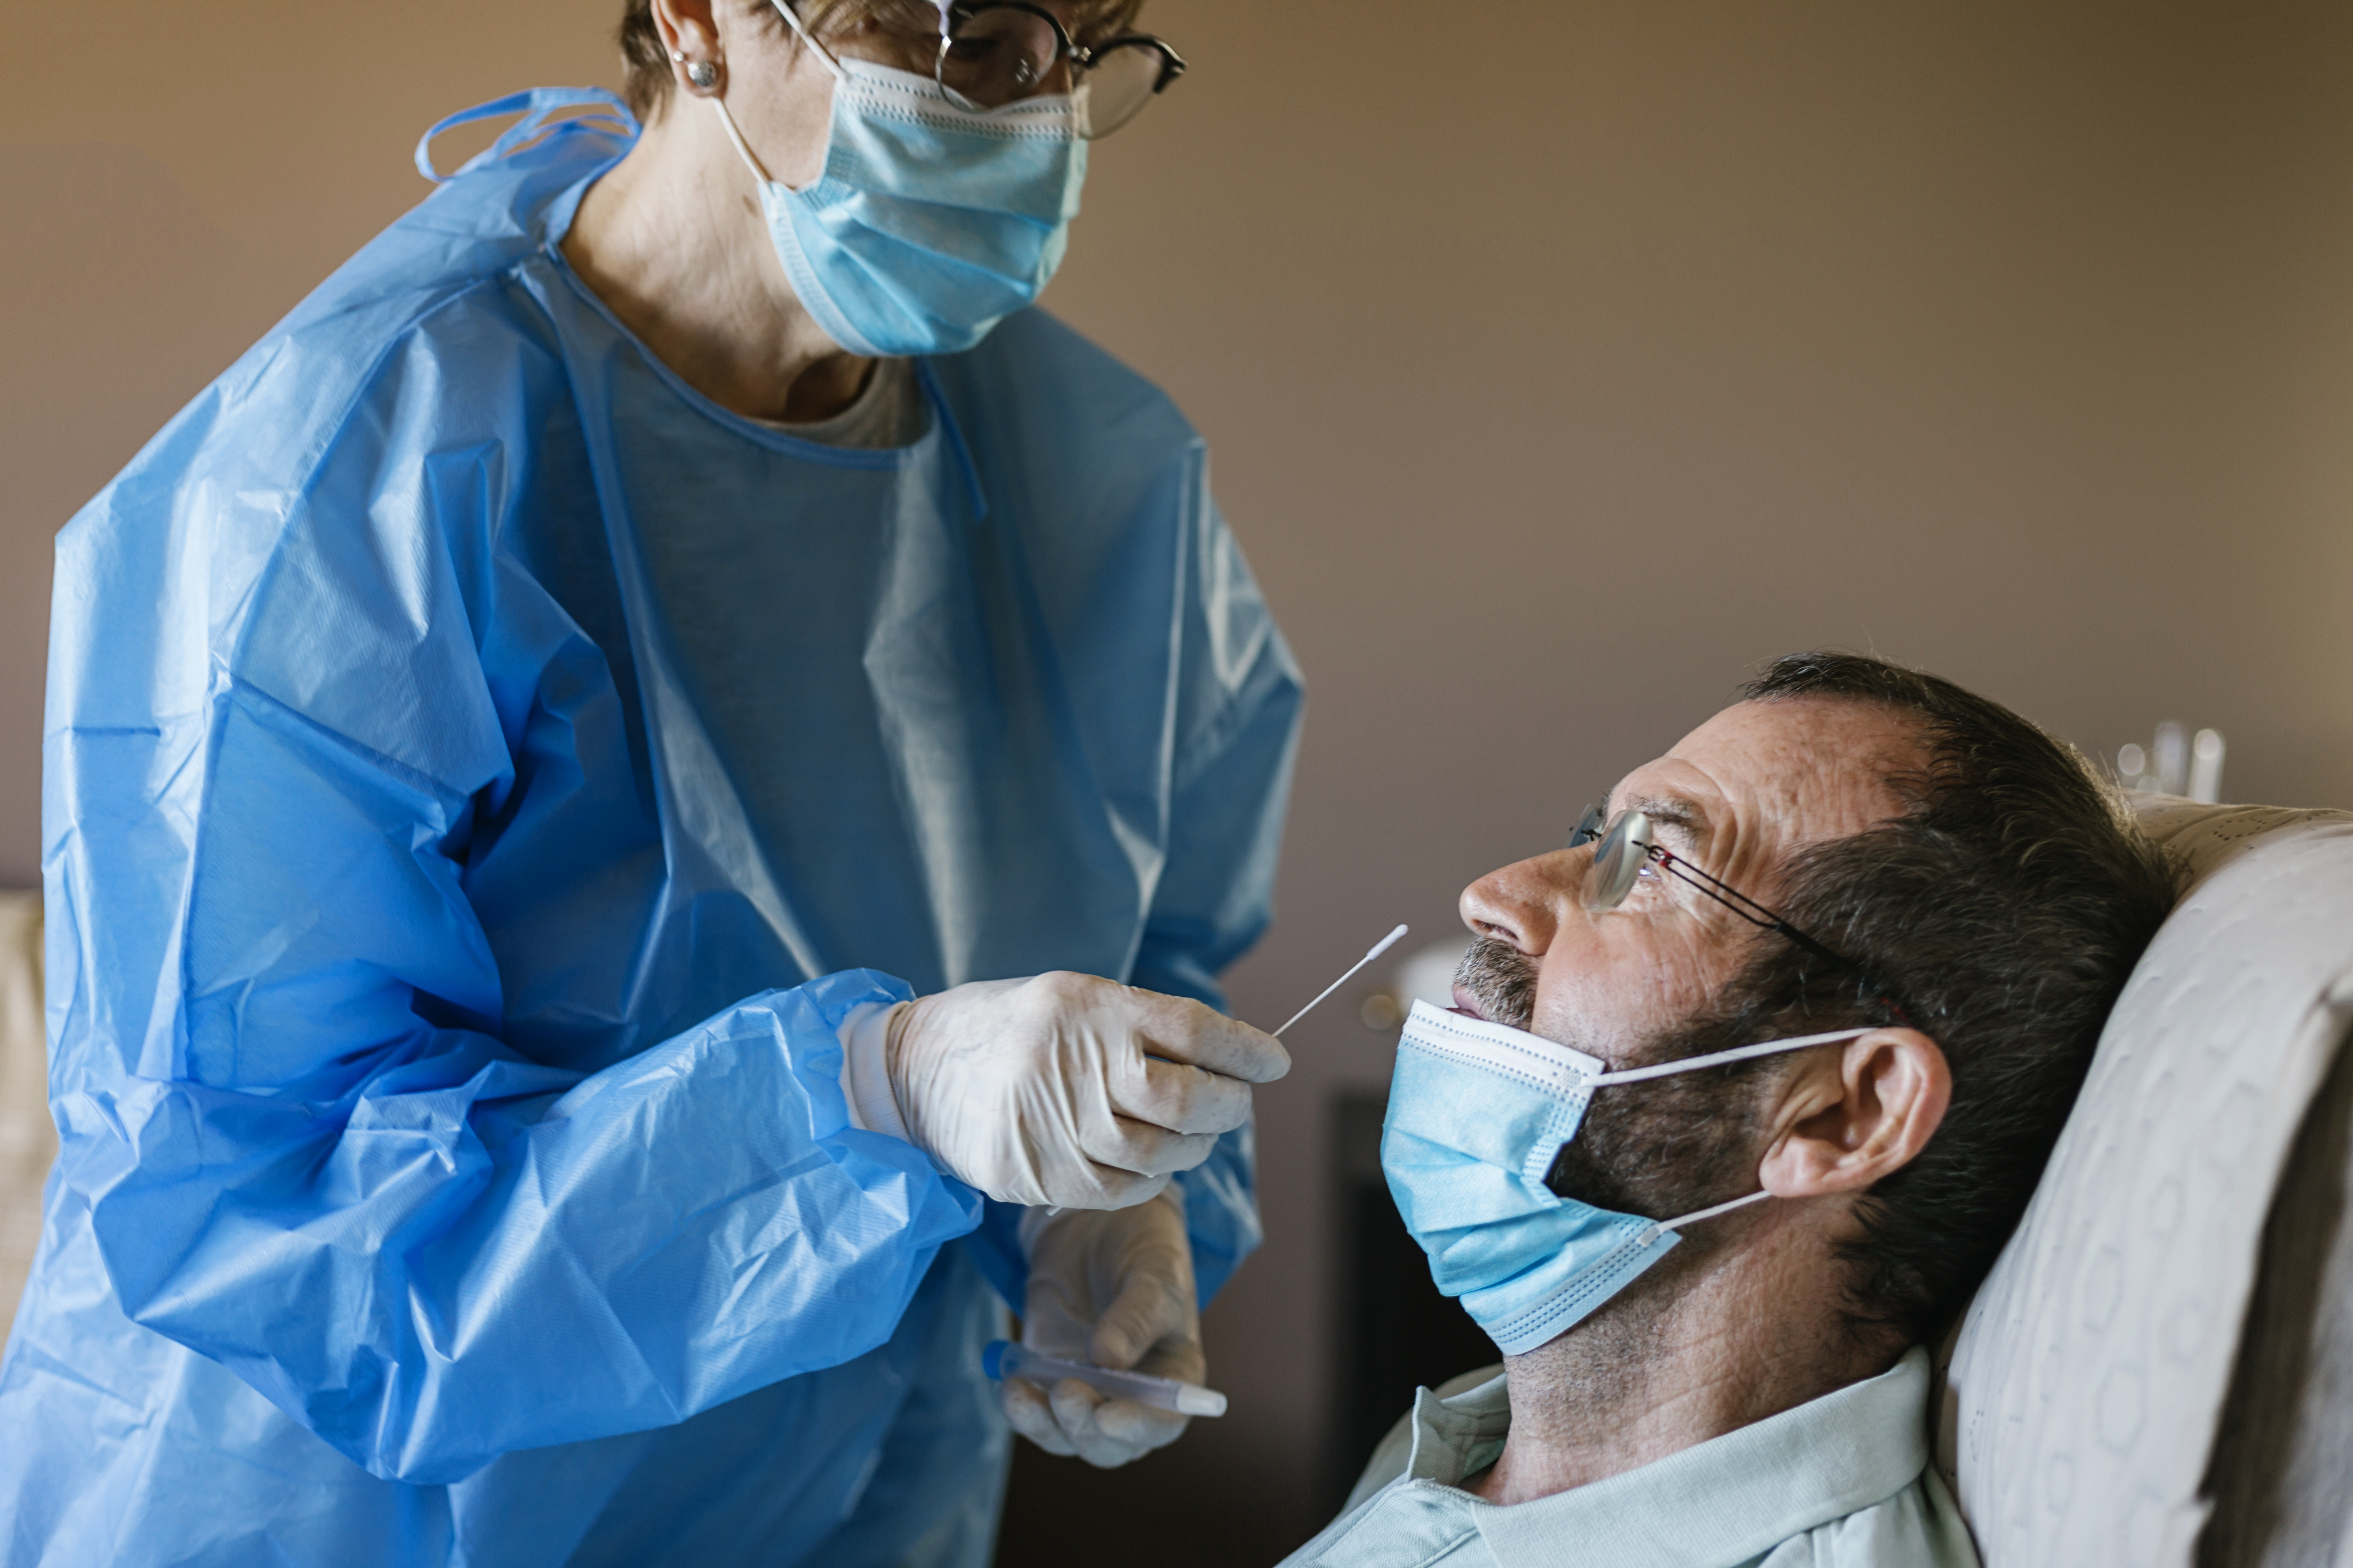
[[1071, 244], [1087, 179], [1085, 89], [960, 108], [927, 75], [835, 59], [826, 172], [793, 190], [753, 158], [767, 233], [800, 303], [854, 355], [948, 355], [1038, 299]]

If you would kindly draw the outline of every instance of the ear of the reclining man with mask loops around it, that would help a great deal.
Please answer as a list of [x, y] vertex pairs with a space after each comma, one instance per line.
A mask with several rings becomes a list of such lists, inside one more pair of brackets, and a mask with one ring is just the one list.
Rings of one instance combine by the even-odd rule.
[[1758, 1178], [1781, 1199], [1861, 1192], [1944, 1121], [1953, 1070], [1920, 1030], [1873, 1030], [1791, 1074]]

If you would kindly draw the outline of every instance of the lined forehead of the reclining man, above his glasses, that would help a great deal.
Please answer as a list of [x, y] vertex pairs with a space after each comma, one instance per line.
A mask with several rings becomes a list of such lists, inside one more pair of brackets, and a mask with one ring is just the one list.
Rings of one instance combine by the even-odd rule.
[[1612, 792], [1612, 809], [1715, 835], [1847, 837], [1904, 809], [1889, 773], [1922, 764], [1918, 724], [1878, 703], [1734, 703]]

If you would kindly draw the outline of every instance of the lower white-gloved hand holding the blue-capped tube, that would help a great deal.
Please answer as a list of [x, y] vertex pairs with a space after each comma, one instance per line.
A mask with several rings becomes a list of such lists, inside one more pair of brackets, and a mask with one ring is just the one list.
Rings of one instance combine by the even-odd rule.
[[[1021, 1215], [1031, 1284], [1021, 1342], [1064, 1361], [1202, 1382], [1193, 1244], [1184, 1187], [1111, 1213], [1033, 1208]], [[1052, 1389], [1007, 1378], [998, 1401], [1014, 1432], [1047, 1453], [1075, 1453], [1101, 1469], [1174, 1443], [1191, 1415], [1106, 1399], [1075, 1378]]]

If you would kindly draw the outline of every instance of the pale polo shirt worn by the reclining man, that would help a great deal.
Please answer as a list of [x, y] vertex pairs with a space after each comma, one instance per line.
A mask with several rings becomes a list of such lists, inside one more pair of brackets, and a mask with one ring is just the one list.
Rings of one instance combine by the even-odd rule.
[[1461, 1490], [1511, 1432], [1501, 1368], [1414, 1394], [1306, 1568], [1977, 1568], [1927, 1462], [1927, 1352], [1640, 1469], [1501, 1507]]

